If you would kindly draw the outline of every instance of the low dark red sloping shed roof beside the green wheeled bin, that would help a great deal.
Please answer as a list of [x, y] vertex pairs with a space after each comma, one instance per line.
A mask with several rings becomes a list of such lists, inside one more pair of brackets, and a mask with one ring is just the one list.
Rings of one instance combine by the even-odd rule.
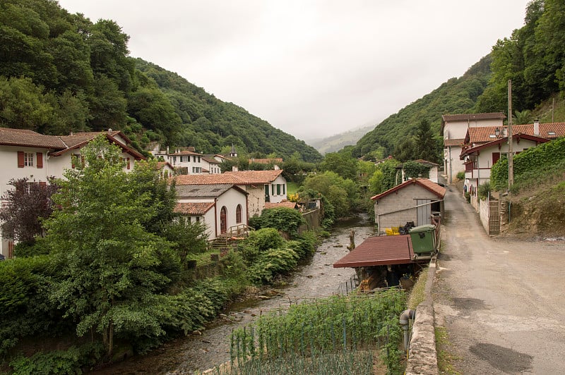
[[412, 263], [414, 250], [410, 235], [369, 237], [349, 254], [333, 264], [333, 268], [386, 266]]

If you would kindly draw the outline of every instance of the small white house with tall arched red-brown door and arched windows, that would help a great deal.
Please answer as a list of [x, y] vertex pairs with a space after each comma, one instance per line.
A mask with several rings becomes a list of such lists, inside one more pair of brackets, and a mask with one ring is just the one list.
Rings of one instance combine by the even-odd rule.
[[239, 233], [248, 223], [247, 195], [233, 184], [177, 185], [174, 212], [189, 221], [202, 221], [208, 228], [208, 240]]

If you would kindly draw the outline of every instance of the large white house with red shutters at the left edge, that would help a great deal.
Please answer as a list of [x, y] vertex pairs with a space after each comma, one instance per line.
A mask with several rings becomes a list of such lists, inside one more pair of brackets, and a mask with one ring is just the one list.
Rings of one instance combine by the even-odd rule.
[[[3, 197], [12, 179], [28, 178], [28, 183], [47, 183], [48, 177], [63, 178], [65, 169], [73, 168], [72, 156], [81, 156], [81, 148], [97, 135], [105, 135], [109, 142], [121, 148], [124, 168], [133, 169], [137, 160], [145, 157], [129, 147], [129, 139], [120, 131], [73, 135], [42, 135], [32, 130], [0, 128], [0, 197]], [[12, 257], [13, 242], [2, 238], [0, 252]]]

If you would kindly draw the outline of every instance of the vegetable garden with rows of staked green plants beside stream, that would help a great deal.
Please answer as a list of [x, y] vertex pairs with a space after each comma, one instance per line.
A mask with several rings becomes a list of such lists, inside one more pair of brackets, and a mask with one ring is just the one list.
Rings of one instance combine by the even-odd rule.
[[380, 355], [402, 373], [402, 290], [334, 295], [261, 316], [230, 337], [230, 366], [215, 374], [372, 374]]

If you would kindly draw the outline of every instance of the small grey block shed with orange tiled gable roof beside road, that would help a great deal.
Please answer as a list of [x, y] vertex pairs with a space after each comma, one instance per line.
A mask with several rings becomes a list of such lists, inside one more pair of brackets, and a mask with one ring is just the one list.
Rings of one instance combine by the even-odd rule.
[[445, 187], [427, 178], [412, 178], [371, 197], [379, 235], [385, 233], [385, 228], [404, 226], [410, 221], [415, 226], [430, 224], [432, 214], [443, 217], [445, 195]]

